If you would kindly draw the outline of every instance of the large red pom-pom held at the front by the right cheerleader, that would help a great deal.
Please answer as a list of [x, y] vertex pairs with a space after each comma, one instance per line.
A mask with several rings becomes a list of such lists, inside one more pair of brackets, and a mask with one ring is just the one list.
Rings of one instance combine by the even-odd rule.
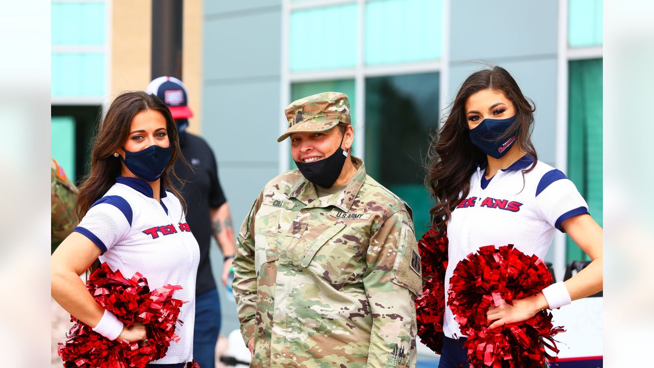
[[542, 368], [545, 358], [555, 361], [543, 345], [558, 353], [553, 336], [564, 331], [553, 327], [552, 314], [541, 310], [532, 318], [489, 330], [486, 312], [495, 301], [511, 303], [536, 295], [552, 283], [545, 263], [526, 256], [513, 245], [485, 246], [456, 265], [450, 279], [449, 308], [468, 336], [470, 367]]

